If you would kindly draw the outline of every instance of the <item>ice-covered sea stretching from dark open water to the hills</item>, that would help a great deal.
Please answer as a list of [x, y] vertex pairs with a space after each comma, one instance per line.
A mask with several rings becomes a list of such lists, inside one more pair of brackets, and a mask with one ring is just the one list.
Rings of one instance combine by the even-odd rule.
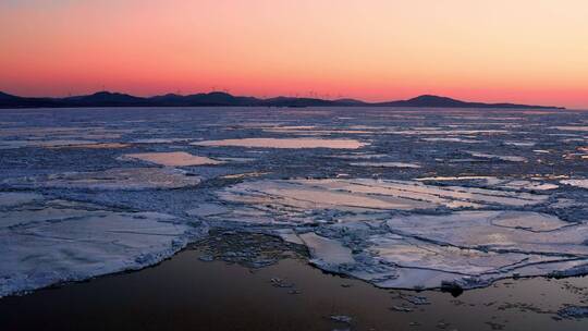
[[0, 297], [143, 269], [219, 231], [381, 289], [588, 274], [588, 112], [0, 110]]

